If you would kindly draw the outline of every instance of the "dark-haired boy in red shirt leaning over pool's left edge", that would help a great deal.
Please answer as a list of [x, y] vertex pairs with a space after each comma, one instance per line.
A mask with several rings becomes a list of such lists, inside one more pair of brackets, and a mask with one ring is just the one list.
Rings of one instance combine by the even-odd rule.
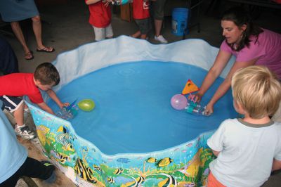
[[2, 110], [13, 112], [15, 117], [15, 133], [25, 139], [34, 138], [34, 132], [25, 126], [23, 120], [24, 101], [21, 96], [28, 96], [32, 103], [36, 103], [42, 110], [53, 115], [55, 113], [44, 102], [41, 91], [46, 91], [48, 96], [58, 104], [60, 108], [70, 105], [62, 103], [51, 89], [60, 82], [58, 70], [51, 63], [42, 63], [33, 73], [12, 73], [0, 77], [0, 100], [3, 101]]

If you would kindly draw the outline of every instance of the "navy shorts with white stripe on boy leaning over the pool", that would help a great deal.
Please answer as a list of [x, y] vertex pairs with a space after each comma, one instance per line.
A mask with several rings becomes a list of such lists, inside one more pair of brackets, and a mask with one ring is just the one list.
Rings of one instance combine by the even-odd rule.
[[18, 110], [23, 103], [22, 98], [14, 96], [0, 96], [0, 100], [3, 101], [2, 110], [6, 109], [10, 112]]

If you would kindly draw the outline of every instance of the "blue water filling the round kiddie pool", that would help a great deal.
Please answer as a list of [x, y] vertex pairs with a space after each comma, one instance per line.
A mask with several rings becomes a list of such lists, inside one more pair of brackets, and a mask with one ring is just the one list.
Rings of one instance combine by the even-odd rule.
[[[171, 97], [181, 93], [188, 79], [200, 86], [206, 74], [200, 67], [183, 63], [121, 63], [79, 77], [57, 94], [63, 102], [95, 101], [94, 110], [79, 110], [70, 122], [79, 136], [103, 153], [148, 153], [178, 146], [237, 116], [230, 91], [218, 101], [210, 117], [171, 107]], [[216, 80], [202, 98], [202, 105], [222, 81]], [[53, 101], [48, 105], [58, 111]]]

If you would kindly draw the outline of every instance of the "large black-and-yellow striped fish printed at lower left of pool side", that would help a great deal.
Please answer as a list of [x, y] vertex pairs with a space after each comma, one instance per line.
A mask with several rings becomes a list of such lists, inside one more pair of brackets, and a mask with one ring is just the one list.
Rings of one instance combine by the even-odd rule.
[[76, 160], [76, 165], [74, 166], [74, 171], [81, 179], [89, 181], [91, 183], [97, 183], [95, 177], [93, 177], [93, 170], [90, 167], [86, 167], [84, 162], [78, 158]]

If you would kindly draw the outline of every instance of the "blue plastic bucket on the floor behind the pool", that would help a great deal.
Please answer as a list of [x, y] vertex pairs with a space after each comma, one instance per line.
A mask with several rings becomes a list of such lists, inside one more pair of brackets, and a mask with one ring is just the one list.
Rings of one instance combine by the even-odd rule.
[[174, 8], [172, 12], [172, 33], [176, 36], [188, 34], [188, 8]]

